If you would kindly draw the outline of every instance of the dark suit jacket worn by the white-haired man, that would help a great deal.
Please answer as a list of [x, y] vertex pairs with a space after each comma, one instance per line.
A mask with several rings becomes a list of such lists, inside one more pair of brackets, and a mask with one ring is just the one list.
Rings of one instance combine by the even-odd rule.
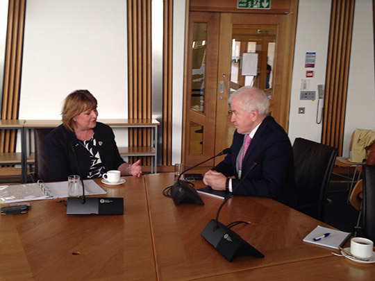
[[232, 180], [233, 193], [274, 198], [286, 205], [294, 206], [297, 191], [294, 184], [294, 164], [292, 146], [285, 130], [276, 123], [273, 117], [266, 117], [260, 124], [242, 162], [242, 177], [246, 176], [254, 160], [261, 155], [260, 161], [240, 186], [238, 173], [235, 168], [238, 153], [240, 153], [244, 135], [235, 131], [231, 153], [213, 170], [227, 177], [235, 176]]

